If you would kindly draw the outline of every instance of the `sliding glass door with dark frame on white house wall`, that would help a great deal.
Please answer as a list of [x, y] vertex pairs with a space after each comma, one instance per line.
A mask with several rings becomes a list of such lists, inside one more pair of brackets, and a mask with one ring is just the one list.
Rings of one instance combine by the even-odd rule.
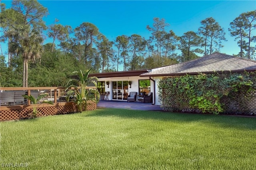
[[112, 81], [112, 100], [127, 100], [128, 81]]

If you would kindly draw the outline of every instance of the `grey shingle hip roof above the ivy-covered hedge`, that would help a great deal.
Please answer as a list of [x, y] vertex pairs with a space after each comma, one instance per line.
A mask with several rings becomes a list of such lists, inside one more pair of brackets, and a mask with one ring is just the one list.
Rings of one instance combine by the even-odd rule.
[[212, 72], [244, 72], [256, 71], [256, 61], [234, 57], [231, 55], [213, 53], [199, 59], [184, 63], [153, 68], [140, 76], [174, 76], [185, 74], [212, 73]]

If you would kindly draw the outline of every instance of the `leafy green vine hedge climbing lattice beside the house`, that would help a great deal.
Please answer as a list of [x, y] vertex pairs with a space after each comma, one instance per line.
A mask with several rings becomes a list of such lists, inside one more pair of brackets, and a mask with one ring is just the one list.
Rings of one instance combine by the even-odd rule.
[[[256, 72], [164, 77], [158, 84], [159, 98], [167, 111], [219, 114], [238, 96], [246, 101], [255, 96]], [[246, 101], [240, 104], [246, 105]]]

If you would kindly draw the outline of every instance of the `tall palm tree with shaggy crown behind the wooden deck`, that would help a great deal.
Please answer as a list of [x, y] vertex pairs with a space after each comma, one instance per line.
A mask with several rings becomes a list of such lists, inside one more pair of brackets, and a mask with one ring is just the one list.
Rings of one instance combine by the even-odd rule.
[[28, 87], [28, 61], [34, 61], [40, 57], [43, 51], [42, 42], [44, 39], [38, 31], [31, 29], [30, 25], [13, 27], [11, 34], [14, 41], [10, 42], [9, 51], [22, 55], [23, 87]]

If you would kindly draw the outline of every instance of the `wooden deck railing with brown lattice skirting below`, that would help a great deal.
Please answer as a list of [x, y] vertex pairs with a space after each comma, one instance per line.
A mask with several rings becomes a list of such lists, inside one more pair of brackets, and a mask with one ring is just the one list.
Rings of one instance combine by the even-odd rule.
[[[88, 87], [92, 88], [92, 87]], [[39, 102], [38, 117], [45, 115], [57, 115], [77, 112], [73, 102], [63, 100], [65, 88], [60, 87], [27, 87], [10, 88], [0, 87], [0, 121], [25, 119], [30, 117], [32, 105], [22, 95], [32, 95], [35, 98], [39, 94], [47, 94], [42, 100], [51, 100], [54, 105], [42, 104]], [[61, 98], [62, 100], [59, 100]], [[87, 110], [96, 109], [96, 104], [88, 102]]]

